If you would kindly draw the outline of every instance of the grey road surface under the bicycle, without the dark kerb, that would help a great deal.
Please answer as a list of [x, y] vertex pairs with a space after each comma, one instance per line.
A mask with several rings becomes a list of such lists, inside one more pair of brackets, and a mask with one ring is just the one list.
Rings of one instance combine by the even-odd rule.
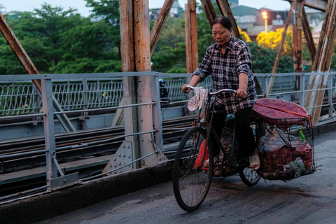
[[194, 212], [179, 208], [172, 182], [140, 190], [42, 223], [336, 223], [336, 132], [314, 142], [314, 174], [292, 181], [264, 181], [245, 186], [239, 176], [214, 179]]

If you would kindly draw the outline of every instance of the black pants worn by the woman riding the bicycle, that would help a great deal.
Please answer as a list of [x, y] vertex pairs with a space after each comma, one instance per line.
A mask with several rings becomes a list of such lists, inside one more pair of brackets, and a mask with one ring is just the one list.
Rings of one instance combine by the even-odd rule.
[[[215, 106], [215, 111], [225, 111], [225, 106]], [[255, 140], [252, 128], [250, 127], [250, 117], [251, 117], [252, 107], [242, 109], [235, 113], [235, 134], [236, 139], [239, 144], [239, 149], [243, 153], [244, 157], [248, 157], [255, 150]], [[224, 127], [225, 118], [227, 114], [214, 113], [214, 118], [212, 121], [212, 127], [220, 138]], [[214, 146], [214, 155], [219, 155], [220, 147], [216, 144], [216, 141], [211, 138]]]

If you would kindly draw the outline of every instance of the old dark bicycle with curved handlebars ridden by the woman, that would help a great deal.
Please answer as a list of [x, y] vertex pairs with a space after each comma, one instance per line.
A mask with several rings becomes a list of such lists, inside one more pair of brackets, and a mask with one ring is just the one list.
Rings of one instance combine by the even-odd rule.
[[[191, 85], [187, 85], [187, 87], [194, 90]], [[195, 120], [195, 127], [184, 134], [177, 149], [173, 167], [173, 188], [176, 202], [185, 211], [195, 211], [207, 197], [214, 175], [214, 167], [221, 171], [219, 172], [220, 176], [232, 176], [238, 173], [241, 181], [247, 186], [255, 185], [261, 177], [249, 168], [248, 158], [241, 158], [241, 154], [237, 150], [235, 131], [233, 131], [232, 146], [228, 148], [220, 144], [221, 139], [211, 127], [212, 115], [216, 113], [214, 105], [210, 108], [211, 99], [222, 92], [235, 93], [236, 91], [223, 89], [218, 92], [208, 92], [204, 116], [201, 115], [200, 110]], [[229, 119], [225, 124], [229, 124], [229, 121], [232, 123], [232, 120]], [[253, 121], [251, 123], [255, 127]], [[221, 160], [216, 165], [214, 164], [210, 134], [214, 135], [214, 139], [221, 147]], [[209, 158], [209, 166], [204, 167], [204, 161], [207, 158]]]

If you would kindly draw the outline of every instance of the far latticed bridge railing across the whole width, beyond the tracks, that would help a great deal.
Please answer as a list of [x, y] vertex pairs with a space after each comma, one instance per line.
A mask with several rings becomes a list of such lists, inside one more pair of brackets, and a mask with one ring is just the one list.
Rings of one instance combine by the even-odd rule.
[[[332, 102], [336, 97], [335, 73], [277, 73], [276, 76], [269, 73], [255, 73], [263, 94], [258, 97], [271, 97], [297, 102], [304, 106], [304, 96], [309, 85], [309, 76], [325, 74], [329, 76], [325, 86], [325, 98]], [[94, 74], [92, 74], [93, 76]], [[165, 74], [158, 73], [161, 78], [160, 92], [163, 100], [172, 102], [186, 100], [186, 94], [181, 92], [181, 86], [186, 83], [186, 77], [190, 74]], [[272, 92], [267, 86], [269, 79], [274, 78]], [[303, 81], [302, 81], [303, 80]], [[302, 85], [304, 83], [304, 85]], [[207, 78], [202, 86], [211, 89], [211, 79]], [[316, 91], [316, 90], [313, 90]], [[64, 111], [81, 109], [100, 109], [118, 106], [123, 98], [122, 78], [83, 78], [83, 79], [53, 79], [52, 93]], [[331, 98], [331, 101], [330, 99]], [[15, 116], [40, 113], [42, 110], [41, 94], [31, 80], [20, 82], [0, 80], [0, 116]], [[324, 103], [323, 109], [332, 111], [333, 103]], [[315, 105], [321, 106], [321, 105]], [[309, 107], [306, 107], [309, 109]], [[335, 112], [335, 111], [334, 111]], [[333, 113], [333, 112], [332, 112]], [[330, 118], [334, 117], [332, 114]]]

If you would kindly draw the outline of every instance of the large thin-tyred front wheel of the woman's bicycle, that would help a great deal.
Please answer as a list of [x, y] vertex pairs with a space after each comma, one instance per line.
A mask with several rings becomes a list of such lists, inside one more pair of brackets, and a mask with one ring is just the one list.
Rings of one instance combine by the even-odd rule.
[[[214, 170], [211, 142], [205, 149], [207, 132], [201, 127], [189, 130], [181, 140], [173, 167], [176, 202], [185, 211], [195, 211], [209, 191]], [[207, 151], [209, 153], [207, 153]], [[204, 161], [209, 158], [209, 165]]]

